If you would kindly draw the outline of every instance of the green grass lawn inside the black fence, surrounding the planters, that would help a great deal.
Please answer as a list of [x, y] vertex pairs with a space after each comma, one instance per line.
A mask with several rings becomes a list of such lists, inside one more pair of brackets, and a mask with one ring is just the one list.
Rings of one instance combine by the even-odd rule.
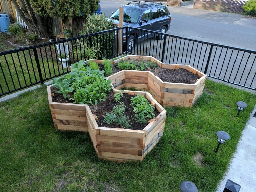
[[[176, 192], [183, 180], [200, 192], [215, 191], [255, 95], [210, 80], [205, 90], [192, 108], [166, 107], [162, 139], [133, 163], [98, 160], [88, 133], [55, 130], [46, 87], [0, 103], [0, 191]], [[239, 100], [248, 107], [236, 118]], [[219, 130], [231, 139], [215, 154]]]

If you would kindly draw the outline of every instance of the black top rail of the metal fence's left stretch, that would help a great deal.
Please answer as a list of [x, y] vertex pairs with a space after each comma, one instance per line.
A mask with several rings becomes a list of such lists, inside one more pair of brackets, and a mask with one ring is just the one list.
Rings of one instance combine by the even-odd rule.
[[43, 44], [39, 44], [39, 45], [32, 45], [32, 46], [29, 46], [29, 47], [12, 49], [12, 50], [9, 50], [9, 51], [3, 51], [3, 52], [0, 52], [0, 56], [7, 55], [7, 54], [12, 54], [12, 53], [17, 53], [17, 52], [25, 51], [25, 50], [29, 50], [29, 49], [45, 47], [45, 46], [49, 46], [49, 45], [55, 45], [55, 44], [59, 44], [59, 43], [65, 43], [67, 41], [73, 41], [73, 40], [82, 39], [82, 38], [86, 38], [86, 37], [89, 37], [89, 36], [99, 35], [99, 34], [112, 32], [112, 31], [118, 31], [120, 29], [125, 29], [125, 28], [127, 28], [127, 27], [113, 28], [113, 29], [109, 29], [109, 30], [105, 30], [105, 31], [100, 31], [100, 32], [97, 32], [97, 33], [90, 33], [90, 34], [86, 34], [86, 35], [81, 35], [81, 36], [76, 36], [76, 37], [72, 37], [72, 38], [68, 38], [68, 39], [43, 43]]

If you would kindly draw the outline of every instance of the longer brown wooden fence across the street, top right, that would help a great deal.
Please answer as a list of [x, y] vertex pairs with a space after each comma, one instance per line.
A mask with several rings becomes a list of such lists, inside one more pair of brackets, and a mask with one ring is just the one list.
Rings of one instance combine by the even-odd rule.
[[245, 1], [234, 0], [194, 0], [195, 9], [208, 9], [213, 11], [243, 13], [242, 6]]

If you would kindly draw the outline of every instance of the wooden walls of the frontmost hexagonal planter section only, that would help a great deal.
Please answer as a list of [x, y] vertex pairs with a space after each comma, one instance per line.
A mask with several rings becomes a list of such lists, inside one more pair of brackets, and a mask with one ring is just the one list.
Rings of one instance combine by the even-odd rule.
[[[118, 90], [113, 89], [114, 92]], [[123, 128], [98, 127], [88, 106], [88, 131], [99, 158], [112, 161], [142, 161], [163, 135], [166, 110], [147, 92], [124, 91], [130, 95], [144, 95], [160, 112], [142, 131]]]

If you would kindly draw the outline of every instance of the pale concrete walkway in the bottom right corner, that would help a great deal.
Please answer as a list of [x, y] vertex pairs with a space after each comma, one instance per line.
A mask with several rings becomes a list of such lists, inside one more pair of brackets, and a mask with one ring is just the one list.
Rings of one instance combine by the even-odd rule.
[[[252, 115], [255, 110], [256, 106]], [[240, 192], [256, 191], [256, 117], [251, 116], [247, 122], [237, 146], [237, 152], [234, 154], [226, 176], [219, 183], [216, 192], [223, 191], [227, 179], [240, 184]]]

